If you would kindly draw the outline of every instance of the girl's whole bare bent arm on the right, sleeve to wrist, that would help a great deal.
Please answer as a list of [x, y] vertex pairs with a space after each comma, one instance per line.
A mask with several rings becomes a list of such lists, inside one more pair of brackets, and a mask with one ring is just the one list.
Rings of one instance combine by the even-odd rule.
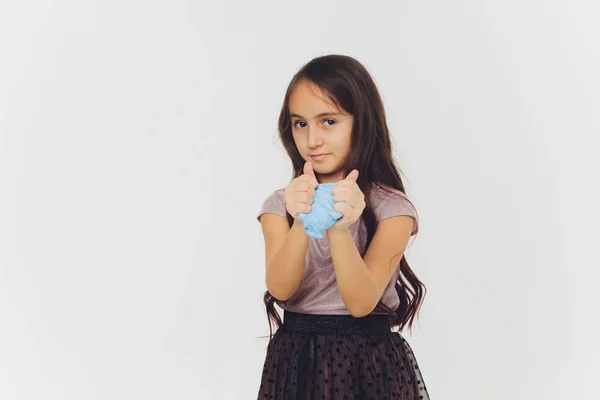
[[402, 259], [412, 227], [413, 218], [408, 215], [384, 219], [364, 259], [348, 229], [327, 230], [338, 289], [352, 316], [363, 317], [375, 309]]

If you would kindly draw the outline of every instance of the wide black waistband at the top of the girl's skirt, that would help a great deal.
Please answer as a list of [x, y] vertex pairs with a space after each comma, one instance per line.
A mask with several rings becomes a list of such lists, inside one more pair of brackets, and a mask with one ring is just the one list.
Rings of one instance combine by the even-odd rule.
[[387, 314], [369, 314], [361, 318], [352, 315], [300, 314], [283, 311], [286, 332], [318, 335], [379, 334], [392, 332], [392, 317]]

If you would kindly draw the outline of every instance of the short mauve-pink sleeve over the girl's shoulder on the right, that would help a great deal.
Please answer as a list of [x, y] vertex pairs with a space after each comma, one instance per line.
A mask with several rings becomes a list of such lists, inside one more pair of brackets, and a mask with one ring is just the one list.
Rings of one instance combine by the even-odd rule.
[[389, 186], [373, 185], [370, 200], [377, 223], [387, 218], [408, 215], [413, 218], [412, 235], [418, 232], [417, 209], [405, 193]]

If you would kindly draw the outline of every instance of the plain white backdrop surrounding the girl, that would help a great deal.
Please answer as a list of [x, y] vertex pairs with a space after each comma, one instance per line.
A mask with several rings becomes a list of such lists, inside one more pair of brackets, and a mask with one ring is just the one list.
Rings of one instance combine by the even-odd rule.
[[356, 57], [419, 210], [433, 399], [598, 399], [600, 6], [0, 3], [0, 398], [252, 399], [286, 85]]

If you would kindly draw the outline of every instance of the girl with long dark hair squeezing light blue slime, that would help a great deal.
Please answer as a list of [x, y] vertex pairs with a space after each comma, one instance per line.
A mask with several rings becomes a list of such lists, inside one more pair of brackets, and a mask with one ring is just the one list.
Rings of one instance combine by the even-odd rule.
[[[429, 399], [409, 344], [392, 330], [412, 327], [425, 286], [403, 255], [418, 216], [367, 70], [347, 56], [310, 61], [288, 87], [279, 134], [294, 179], [258, 215], [271, 331], [258, 399]], [[335, 184], [343, 216], [314, 239], [298, 214], [323, 183]]]

